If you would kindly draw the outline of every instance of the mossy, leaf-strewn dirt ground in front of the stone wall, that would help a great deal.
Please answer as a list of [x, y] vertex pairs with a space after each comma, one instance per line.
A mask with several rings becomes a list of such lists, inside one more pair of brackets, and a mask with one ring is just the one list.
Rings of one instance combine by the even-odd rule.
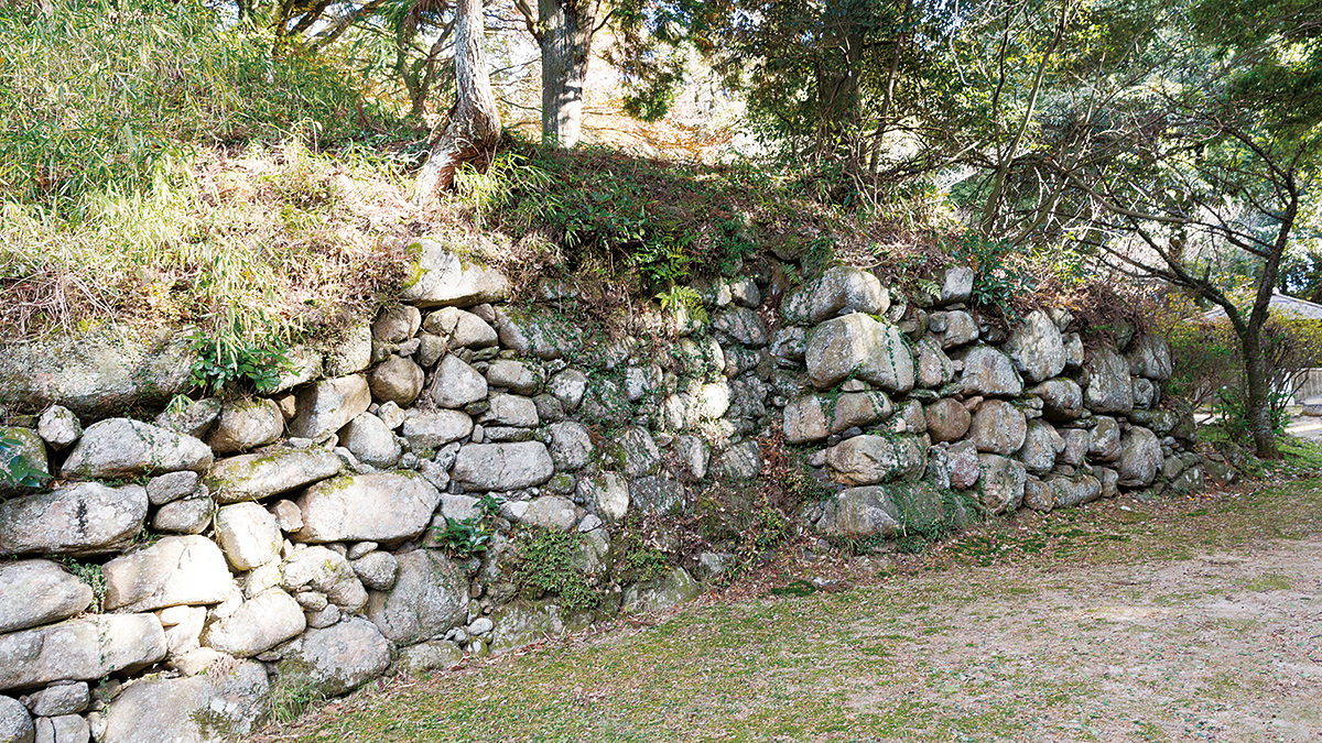
[[[263, 740], [1322, 742], [1319, 513], [1313, 480], [1022, 514], [917, 557], [809, 543], [660, 621]], [[814, 578], [838, 583], [773, 591]]]

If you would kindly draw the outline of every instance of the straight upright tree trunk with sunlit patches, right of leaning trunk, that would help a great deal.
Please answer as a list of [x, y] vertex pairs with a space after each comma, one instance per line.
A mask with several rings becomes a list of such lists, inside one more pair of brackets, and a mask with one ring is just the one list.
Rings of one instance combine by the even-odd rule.
[[592, 50], [596, 4], [538, 0], [537, 42], [542, 49], [542, 141], [575, 147], [583, 126], [583, 82]]

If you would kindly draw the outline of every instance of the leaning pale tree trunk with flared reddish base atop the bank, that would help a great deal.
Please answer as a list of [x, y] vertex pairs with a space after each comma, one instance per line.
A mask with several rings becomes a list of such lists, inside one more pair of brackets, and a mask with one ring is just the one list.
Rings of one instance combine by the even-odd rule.
[[459, 0], [455, 7], [455, 87], [457, 99], [446, 132], [431, 148], [418, 173], [414, 204], [424, 206], [455, 184], [464, 163], [485, 167], [500, 141], [500, 112], [483, 54], [483, 0]]

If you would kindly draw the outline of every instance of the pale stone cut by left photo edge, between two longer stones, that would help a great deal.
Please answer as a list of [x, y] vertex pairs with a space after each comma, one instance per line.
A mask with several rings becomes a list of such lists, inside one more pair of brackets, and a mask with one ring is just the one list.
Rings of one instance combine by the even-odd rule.
[[91, 587], [45, 559], [0, 563], [0, 633], [50, 624], [91, 606]]

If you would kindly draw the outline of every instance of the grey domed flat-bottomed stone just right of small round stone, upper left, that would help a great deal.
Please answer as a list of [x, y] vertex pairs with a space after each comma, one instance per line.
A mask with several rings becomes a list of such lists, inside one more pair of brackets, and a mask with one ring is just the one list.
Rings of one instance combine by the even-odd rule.
[[132, 477], [143, 472], [204, 472], [212, 465], [212, 450], [193, 436], [184, 436], [128, 418], [111, 418], [89, 426], [69, 452], [65, 477]]

